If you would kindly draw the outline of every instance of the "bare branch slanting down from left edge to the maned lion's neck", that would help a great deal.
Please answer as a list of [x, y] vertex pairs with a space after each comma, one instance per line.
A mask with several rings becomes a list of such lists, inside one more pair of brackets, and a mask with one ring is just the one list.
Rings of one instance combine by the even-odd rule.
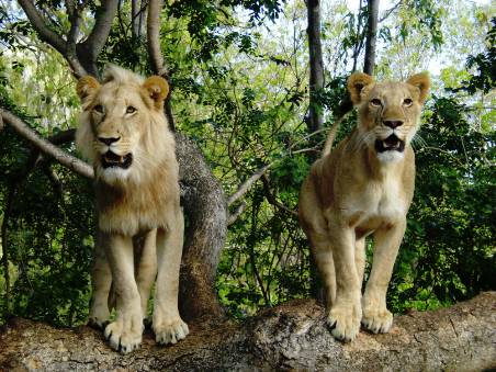
[[23, 138], [27, 139], [32, 145], [37, 147], [43, 154], [53, 157], [64, 167], [67, 167], [78, 174], [92, 179], [94, 177], [93, 169], [84, 161], [69, 155], [68, 153], [61, 150], [54, 144], [49, 143], [45, 138], [41, 137], [36, 132], [27, 126], [22, 120], [12, 114], [7, 110], [2, 110], [1, 116], [3, 120], [12, 126], [12, 128], [21, 135]]

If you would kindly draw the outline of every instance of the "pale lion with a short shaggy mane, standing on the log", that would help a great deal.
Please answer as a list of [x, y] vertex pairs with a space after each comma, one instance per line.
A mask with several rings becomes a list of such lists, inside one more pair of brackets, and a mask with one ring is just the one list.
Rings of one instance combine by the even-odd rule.
[[[116, 66], [105, 70], [102, 84], [91, 76], [77, 84], [82, 113], [76, 144], [94, 168], [98, 211], [90, 323], [108, 323], [113, 283], [116, 318], [104, 335], [122, 352], [142, 342], [156, 278], [157, 342], [174, 343], [189, 332], [178, 311], [184, 221], [176, 144], [164, 115], [168, 90], [160, 77], [145, 80]], [[143, 249], [134, 262], [138, 238]]]

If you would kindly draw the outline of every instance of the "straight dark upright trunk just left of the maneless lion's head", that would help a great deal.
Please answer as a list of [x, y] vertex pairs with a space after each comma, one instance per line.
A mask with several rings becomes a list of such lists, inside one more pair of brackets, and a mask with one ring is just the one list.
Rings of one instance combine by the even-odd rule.
[[320, 43], [320, 0], [307, 0], [308, 13], [308, 52], [309, 52], [309, 117], [308, 133], [323, 128], [323, 109], [317, 102], [317, 94], [324, 88], [324, 63]]

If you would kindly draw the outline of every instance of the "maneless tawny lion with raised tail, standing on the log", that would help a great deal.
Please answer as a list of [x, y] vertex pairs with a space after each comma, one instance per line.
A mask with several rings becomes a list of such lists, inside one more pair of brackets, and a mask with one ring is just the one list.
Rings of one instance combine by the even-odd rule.
[[[351, 341], [361, 323], [386, 332], [393, 315], [386, 308], [387, 284], [414, 195], [415, 155], [412, 138], [429, 90], [426, 74], [406, 82], [375, 82], [356, 72], [348, 80], [358, 125], [323, 157], [303, 183], [298, 215], [327, 291], [337, 339]], [[373, 266], [363, 296], [365, 237], [373, 234]]]

